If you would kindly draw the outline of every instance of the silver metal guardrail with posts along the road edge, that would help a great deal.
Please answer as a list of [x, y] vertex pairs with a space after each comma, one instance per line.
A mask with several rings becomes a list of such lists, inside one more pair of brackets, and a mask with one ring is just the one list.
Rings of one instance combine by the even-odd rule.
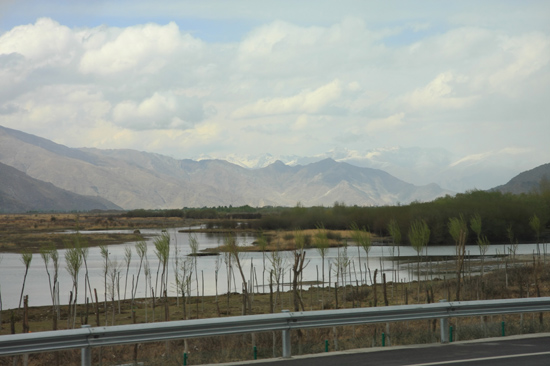
[[288, 312], [182, 320], [163, 323], [131, 324], [111, 327], [83, 326], [80, 329], [0, 336], [0, 356], [82, 349], [82, 365], [91, 365], [91, 348], [120, 344], [158, 342], [183, 338], [282, 331], [283, 357], [290, 357], [290, 331], [304, 328], [441, 319], [441, 341], [447, 342], [444, 329], [448, 318], [550, 311], [550, 297], [446, 302], [434, 304], [385, 306]]

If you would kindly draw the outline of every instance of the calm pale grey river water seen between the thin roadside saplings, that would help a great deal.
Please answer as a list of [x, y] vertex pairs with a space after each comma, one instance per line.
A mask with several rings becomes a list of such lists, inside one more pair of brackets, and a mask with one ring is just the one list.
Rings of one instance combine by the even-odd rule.
[[[176, 281], [175, 281], [175, 258], [176, 252], [179, 253], [180, 263], [181, 258], [185, 258], [187, 254], [191, 252], [189, 246], [189, 234], [180, 233], [180, 229], [170, 229], [168, 234], [171, 237], [170, 243], [170, 264], [169, 264], [169, 295], [175, 296], [176, 294]], [[125, 232], [125, 231], [118, 231]], [[147, 235], [147, 259], [149, 261], [149, 266], [151, 268], [151, 279], [153, 286], [155, 285], [155, 278], [158, 268], [158, 259], [154, 253], [154, 236], [160, 235], [160, 230], [142, 230], [142, 234]], [[223, 243], [223, 235], [217, 234], [206, 234], [206, 233], [194, 233], [192, 234], [196, 237], [199, 243], [199, 250], [216, 247]], [[238, 235], [237, 240], [240, 245], [251, 245], [255, 237], [252, 235]], [[130, 267], [128, 271], [128, 284], [126, 282], [126, 265], [124, 263], [124, 253], [125, 247], [130, 246], [132, 248], [132, 259], [130, 262]], [[487, 256], [496, 256], [499, 254], [508, 253], [511, 250], [510, 245], [491, 245], [486, 253]], [[547, 244], [541, 245], [541, 252], [547, 252]], [[136, 278], [138, 268], [139, 268], [139, 257], [135, 250], [135, 242], [126, 243], [126, 244], [117, 244], [110, 245], [109, 249], [109, 258], [112, 261], [118, 262], [120, 267], [120, 297], [129, 298], [130, 297], [130, 288], [132, 286], [132, 277]], [[533, 254], [536, 252], [537, 246], [535, 244], [520, 244], [517, 246], [517, 254]], [[392, 254], [397, 256], [399, 252], [399, 261], [392, 261], [390, 257]], [[361, 258], [359, 259], [359, 253]], [[427, 248], [427, 254], [429, 257], [442, 257], [442, 256], [452, 256], [455, 253], [455, 248], [453, 246], [430, 246]], [[467, 246], [466, 253], [471, 255], [478, 255], [479, 249], [477, 246]], [[349, 262], [345, 259], [345, 255]], [[267, 284], [269, 278], [269, 270], [271, 269], [271, 257], [273, 253], [241, 253], [241, 263], [247, 278], [247, 281], [250, 281], [253, 277], [254, 279], [254, 288], [255, 291], [263, 292], [267, 291]], [[281, 282], [285, 285], [285, 290], [289, 289], [288, 283], [290, 282], [290, 271], [293, 263], [292, 253], [291, 252], [279, 252], [279, 255], [282, 258], [283, 268], [285, 269], [284, 278], [281, 279]], [[324, 263], [325, 263], [325, 283], [329, 281], [329, 270], [330, 270], [330, 279], [334, 284], [336, 279], [335, 268], [337, 263], [349, 263], [346, 270], [346, 281], [349, 281], [351, 277], [352, 282], [355, 284], [356, 280], [361, 282], [361, 278], [364, 278], [367, 283], [370, 284], [370, 280], [366, 280], [368, 276], [365, 275], [365, 269], [368, 268], [371, 273], [378, 269], [378, 271], [386, 273], [387, 281], [394, 282], [403, 282], [409, 280], [417, 279], [416, 274], [416, 264], [412, 265], [410, 260], [404, 261], [405, 257], [414, 257], [417, 253], [411, 247], [400, 247], [399, 251], [389, 246], [372, 246], [369, 252], [369, 261], [366, 263], [365, 252], [361, 249], [357, 250], [355, 246], [349, 246], [346, 250], [343, 248], [331, 248], [328, 250]], [[2, 298], [2, 309], [11, 309], [17, 308], [19, 305], [19, 299], [21, 294], [21, 288], [23, 284], [23, 276], [25, 273], [25, 266], [21, 261], [20, 254], [13, 253], [3, 253], [0, 254], [0, 292]], [[338, 258], [341, 258], [339, 261]], [[215, 286], [215, 277], [216, 277], [216, 268], [218, 268], [218, 293], [226, 293], [228, 291], [228, 281], [227, 281], [227, 266], [225, 262], [226, 256], [223, 254], [219, 256], [201, 256], [197, 257], [197, 268], [198, 268], [198, 282], [199, 282], [199, 292], [203, 292], [205, 295], [214, 295], [216, 292]], [[361, 260], [361, 270], [359, 269], [359, 260]], [[264, 272], [264, 261], [265, 261], [265, 272]], [[316, 249], [307, 249], [306, 250], [306, 262], [307, 267], [303, 272], [303, 281], [317, 281], [322, 279], [322, 267], [323, 261]], [[408, 264], [407, 264], [408, 263]], [[104, 276], [103, 268], [104, 261], [101, 257], [100, 250], [98, 247], [89, 248], [89, 254], [87, 257], [87, 265], [89, 271], [89, 279], [92, 289], [97, 289], [99, 301], [104, 299]], [[427, 266], [426, 263], [423, 266]], [[239, 283], [239, 274], [234, 270], [234, 276], [231, 276], [231, 289], [230, 291], [240, 291], [240, 285], [235, 286], [235, 282]], [[51, 269], [50, 269], [51, 272]], [[363, 273], [363, 277], [361, 277]], [[79, 289], [78, 289], [78, 301], [83, 303], [84, 298], [84, 274], [85, 268], [82, 267], [79, 275]], [[233, 280], [236, 278], [236, 281]], [[424, 277], [421, 276], [423, 279]], [[204, 280], [203, 280], [204, 279]], [[381, 282], [380, 278], [378, 282]], [[262, 283], [265, 286], [262, 286]], [[124, 289], [126, 289], [126, 295], [124, 294]], [[237, 287], [237, 289], [235, 288]], [[59, 288], [60, 288], [60, 303], [67, 304], [69, 302], [69, 292], [72, 289], [72, 280], [70, 275], [66, 270], [65, 265], [65, 250], [59, 250]], [[141, 271], [138, 290], [136, 297], [144, 297], [145, 285], [143, 277], [143, 269]], [[192, 282], [192, 295], [197, 293], [197, 286], [195, 281], [195, 276], [193, 275]], [[27, 280], [25, 283], [24, 294], [29, 295], [29, 306], [42, 306], [51, 304], [51, 296], [49, 291], [49, 282], [46, 270], [44, 267], [44, 262], [39, 254], [34, 254], [31, 265], [29, 267], [29, 272], [27, 275]], [[90, 296], [88, 294], [88, 296]]]

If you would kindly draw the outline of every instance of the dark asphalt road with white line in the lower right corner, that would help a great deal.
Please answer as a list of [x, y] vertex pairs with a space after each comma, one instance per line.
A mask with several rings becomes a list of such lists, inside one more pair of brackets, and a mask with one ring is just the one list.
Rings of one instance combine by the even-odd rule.
[[550, 365], [550, 334], [494, 338], [446, 345], [371, 348], [246, 364], [255, 366], [548, 366]]

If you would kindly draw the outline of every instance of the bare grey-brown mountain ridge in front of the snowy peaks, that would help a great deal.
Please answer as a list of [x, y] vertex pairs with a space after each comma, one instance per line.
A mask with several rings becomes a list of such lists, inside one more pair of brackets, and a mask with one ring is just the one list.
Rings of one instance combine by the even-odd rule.
[[136, 150], [68, 148], [0, 127], [0, 162], [30, 177], [124, 209], [245, 205], [390, 205], [452, 193], [372, 168], [324, 159], [247, 169], [223, 160], [177, 160]]

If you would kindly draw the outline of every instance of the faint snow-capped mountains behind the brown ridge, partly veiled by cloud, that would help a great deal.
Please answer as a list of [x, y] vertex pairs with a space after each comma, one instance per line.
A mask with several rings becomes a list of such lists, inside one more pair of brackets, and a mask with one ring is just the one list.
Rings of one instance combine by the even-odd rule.
[[[335, 149], [315, 156], [230, 154], [223, 157], [249, 169], [264, 168], [277, 160], [287, 165], [307, 165], [327, 158], [363, 168], [381, 169], [415, 185], [436, 183], [444, 189], [465, 192], [490, 189], [510, 180], [525, 166], [527, 152], [502, 149], [485, 154], [455, 156], [443, 148], [392, 147], [364, 151]], [[212, 159], [209, 156], [197, 158]]]

